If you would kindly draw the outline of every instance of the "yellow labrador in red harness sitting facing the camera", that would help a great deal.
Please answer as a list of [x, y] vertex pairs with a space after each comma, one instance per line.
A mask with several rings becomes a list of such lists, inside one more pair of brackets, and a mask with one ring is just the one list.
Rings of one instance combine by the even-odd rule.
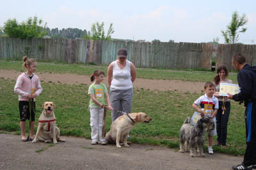
[[44, 141], [45, 143], [65, 141], [64, 139], [60, 139], [60, 129], [56, 126], [54, 108], [55, 105], [51, 101], [43, 104], [43, 111], [38, 119], [36, 136], [32, 143], [36, 143], [36, 141]]

